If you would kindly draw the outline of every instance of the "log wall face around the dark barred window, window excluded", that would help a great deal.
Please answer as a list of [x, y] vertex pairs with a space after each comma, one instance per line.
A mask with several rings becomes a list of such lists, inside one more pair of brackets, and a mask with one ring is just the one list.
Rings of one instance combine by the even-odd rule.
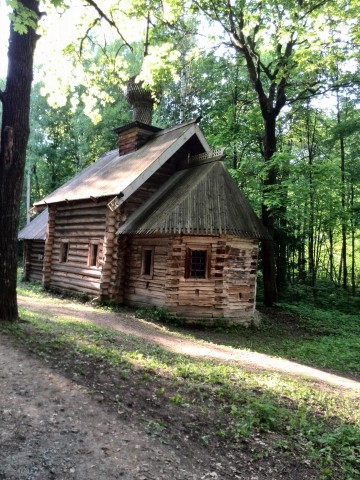
[[[208, 278], [185, 278], [186, 251], [208, 248]], [[168, 255], [166, 302], [188, 318], [246, 321], [255, 311], [258, 242], [233, 236], [178, 236]]]

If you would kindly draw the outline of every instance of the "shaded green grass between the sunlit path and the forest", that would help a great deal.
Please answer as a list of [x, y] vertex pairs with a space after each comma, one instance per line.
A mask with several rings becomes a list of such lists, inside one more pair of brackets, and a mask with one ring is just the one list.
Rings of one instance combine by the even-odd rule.
[[[147, 318], [156, 321], [156, 314]], [[190, 328], [190, 337], [295, 360], [305, 365], [360, 375], [360, 315], [314, 305], [280, 303], [260, 326]]]

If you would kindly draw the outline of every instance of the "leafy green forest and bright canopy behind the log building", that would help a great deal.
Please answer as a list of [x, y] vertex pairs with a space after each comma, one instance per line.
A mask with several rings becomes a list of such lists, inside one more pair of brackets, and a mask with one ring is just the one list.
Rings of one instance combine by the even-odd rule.
[[124, 86], [136, 76], [158, 95], [154, 125], [201, 115], [211, 146], [226, 147], [230, 173], [273, 234], [260, 266], [276, 272], [280, 293], [357, 294], [357, 1], [51, 3], [35, 57], [21, 225], [27, 195], [32, 204], [116, 147], [113, 129], [131, 120]]

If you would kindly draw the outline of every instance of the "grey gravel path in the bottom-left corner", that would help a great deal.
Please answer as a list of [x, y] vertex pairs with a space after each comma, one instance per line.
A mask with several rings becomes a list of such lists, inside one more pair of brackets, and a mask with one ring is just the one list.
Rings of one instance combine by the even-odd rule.
[[213, 478], [6, 342], [0, 335], [0, 479]]

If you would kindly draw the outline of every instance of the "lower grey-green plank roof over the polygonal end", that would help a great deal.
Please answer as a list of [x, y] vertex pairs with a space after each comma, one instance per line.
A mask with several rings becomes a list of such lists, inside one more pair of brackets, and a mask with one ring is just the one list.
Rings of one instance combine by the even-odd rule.
[[269, 238], [249, 202], [219, 161], [177, 172], [117, 233]]

